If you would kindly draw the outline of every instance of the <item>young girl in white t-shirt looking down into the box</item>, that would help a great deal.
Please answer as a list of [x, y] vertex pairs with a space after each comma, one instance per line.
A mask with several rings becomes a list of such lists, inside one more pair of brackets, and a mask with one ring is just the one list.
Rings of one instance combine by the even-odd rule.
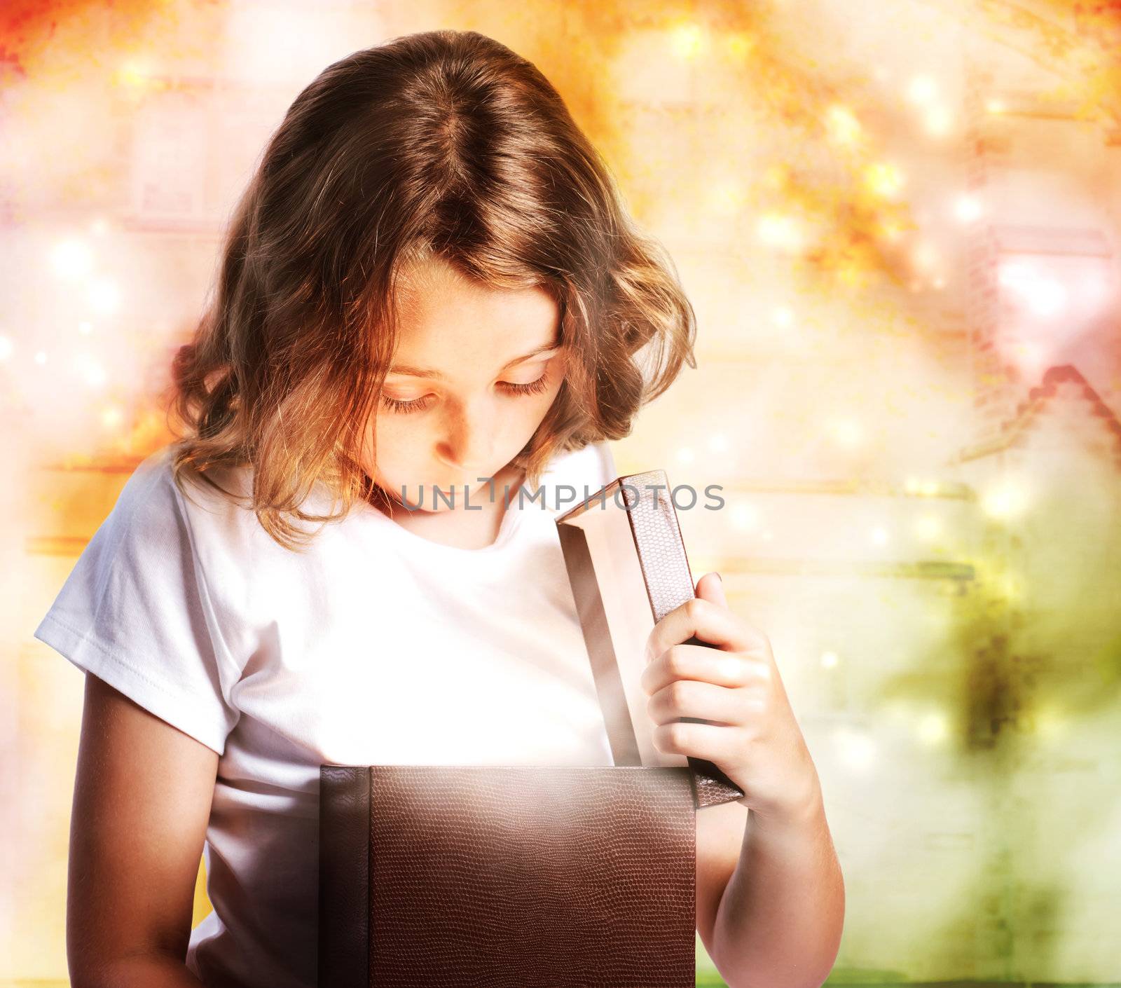
[[[299, 94], [175, 361], [182, 438], [35, 632], [89, 673], [75, 985], [315, 985], [322, 763], [612, 764], [554, 519], [693, 334], [508, 48], [410, 35]], [[745, 793], [697, 814], [697, 929], [730, 985], [816, 986], [843, 913], [817, 776], [766, 636], [697, 592], [643, 678], [659, 748]]]

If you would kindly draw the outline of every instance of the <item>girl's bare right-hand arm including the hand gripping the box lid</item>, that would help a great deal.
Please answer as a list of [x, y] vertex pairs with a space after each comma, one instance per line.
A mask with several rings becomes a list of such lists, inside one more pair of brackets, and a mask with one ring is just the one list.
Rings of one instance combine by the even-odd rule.
[[647, 659], [654, 744], [713, 761], [744, 794], [739, 810], [697, 811], [697, 930], [708, 955], [732, 988], [819, 988], [841, 944], [844, 881], [770, 639], [707, 573], [655, 625]]

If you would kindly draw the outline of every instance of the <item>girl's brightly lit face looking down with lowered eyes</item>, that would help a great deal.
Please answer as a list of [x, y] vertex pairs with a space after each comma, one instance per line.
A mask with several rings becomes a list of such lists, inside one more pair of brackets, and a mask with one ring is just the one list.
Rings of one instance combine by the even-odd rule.
[[557, 304], [537, 288], [481, 287], [439, 260], [413, 269], [400, 303], [370, 475], [395, 500], [404, 487], [410, 505], [423, 488], [425, 510], [460, 510], [464, 488], [472, 506], [487, 501], [487, 479], [529, 442], [564, 379]]

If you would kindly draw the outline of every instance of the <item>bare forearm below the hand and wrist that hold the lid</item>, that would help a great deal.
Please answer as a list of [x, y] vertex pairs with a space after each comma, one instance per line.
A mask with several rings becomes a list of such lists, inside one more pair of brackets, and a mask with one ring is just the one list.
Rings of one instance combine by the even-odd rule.
[[712, 960], [731, 988], [819, 988], [836, 960], [844, 879], [818, 798], [798, 823], [751, 811], [720, 902]]

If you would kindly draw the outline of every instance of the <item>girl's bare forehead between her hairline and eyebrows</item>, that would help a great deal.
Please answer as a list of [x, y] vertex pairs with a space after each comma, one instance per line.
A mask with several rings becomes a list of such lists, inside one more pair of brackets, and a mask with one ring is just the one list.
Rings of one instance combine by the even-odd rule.
[[398, 362], [502, 366], [556, 342], [559, 308], [543, 288], [493, 288], [434, 258], [409, 266], [398, 286]]

